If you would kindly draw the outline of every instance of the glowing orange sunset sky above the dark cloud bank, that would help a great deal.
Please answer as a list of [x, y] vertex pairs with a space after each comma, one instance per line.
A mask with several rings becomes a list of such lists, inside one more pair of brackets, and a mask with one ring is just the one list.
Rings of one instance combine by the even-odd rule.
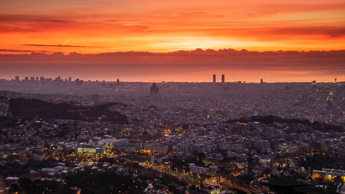
[[345, 2], [336, 0], [0, 3], [0, 54], [307, 51], [341, 50], [344, 45]]

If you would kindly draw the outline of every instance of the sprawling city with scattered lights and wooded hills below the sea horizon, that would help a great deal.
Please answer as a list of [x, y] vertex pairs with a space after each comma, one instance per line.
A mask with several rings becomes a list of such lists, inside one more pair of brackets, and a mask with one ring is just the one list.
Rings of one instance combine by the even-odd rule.
[[0, 79], [2, 193], [345, 193], [345, 82]]

